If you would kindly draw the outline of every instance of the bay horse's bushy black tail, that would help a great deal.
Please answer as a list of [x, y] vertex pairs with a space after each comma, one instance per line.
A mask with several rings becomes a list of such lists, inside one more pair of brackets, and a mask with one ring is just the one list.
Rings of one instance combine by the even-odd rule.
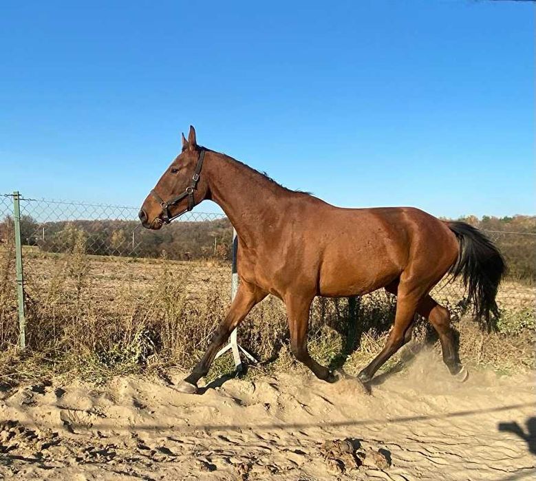
[[462, 276], [475, 316], [485, 322], [488, 330], [493, 330], [499, 315], [495, 296], [506, 270], [504, 259], [477, 228], [465, 222], [448, 222], [448, 225], [460, 242], [460, 254], [449, 274]]

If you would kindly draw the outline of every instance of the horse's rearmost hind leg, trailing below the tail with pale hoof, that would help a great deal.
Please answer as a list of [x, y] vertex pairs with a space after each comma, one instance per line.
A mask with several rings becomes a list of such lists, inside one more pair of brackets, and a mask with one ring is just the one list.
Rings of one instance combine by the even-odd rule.
[[454, 340], [454, 335], [451, 328], [451, 315], [447, 308], [440, 306], [430, 296], [426, 296], [420, 301], [417, 312], [426, 317], [433, 328], [438, 332], [441, 342], [441, 350], [443, 353], [443, 361], [449, 368], [453, 376], [456, 376], [460, 381], [467, 379], [467, 370], [460, 363], [458, 350]]

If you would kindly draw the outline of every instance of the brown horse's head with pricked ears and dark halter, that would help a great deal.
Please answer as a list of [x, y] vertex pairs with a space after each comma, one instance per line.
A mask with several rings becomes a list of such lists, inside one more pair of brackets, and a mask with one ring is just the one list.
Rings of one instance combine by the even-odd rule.
[[190, 126], [188, 140], [182, 134], [182, 152], [143, 202], [138, 217], [144, 227], [159, 229], [182, 213], [191, 211], [206, 197], [208, 184], [200, 175], [204, 154], [205, 150], [197, 145], [195, 130]]

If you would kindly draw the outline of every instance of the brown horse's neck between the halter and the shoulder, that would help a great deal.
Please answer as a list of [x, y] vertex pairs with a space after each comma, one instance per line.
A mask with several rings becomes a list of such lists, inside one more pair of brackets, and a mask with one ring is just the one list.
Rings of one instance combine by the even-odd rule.
[[282, 203], [290, 195], [264, 175], [221, 153], [206, 162], [211, 200], [226, 213], [246, 246], [274, 235]]

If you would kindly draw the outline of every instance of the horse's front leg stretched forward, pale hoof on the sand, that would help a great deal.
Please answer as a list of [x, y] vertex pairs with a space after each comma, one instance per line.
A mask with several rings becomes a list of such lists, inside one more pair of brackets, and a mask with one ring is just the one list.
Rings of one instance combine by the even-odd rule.
[[253, 286], [253, 284], [242, 282], [239, 285], [235, 299], [231, 303], [231, 308], [229, 308], [225, 319], [219, 324], [205, 355], [194, 367], [192, 373], [178, 385], [180, 392], [188, 394], [197, 392], [197, 381], [206, 376], [219, 348], [227, 341], [233, 329], [244, 320], [253, 306], [262, 301], [267, 295], [267, 292], [257, 286]]

